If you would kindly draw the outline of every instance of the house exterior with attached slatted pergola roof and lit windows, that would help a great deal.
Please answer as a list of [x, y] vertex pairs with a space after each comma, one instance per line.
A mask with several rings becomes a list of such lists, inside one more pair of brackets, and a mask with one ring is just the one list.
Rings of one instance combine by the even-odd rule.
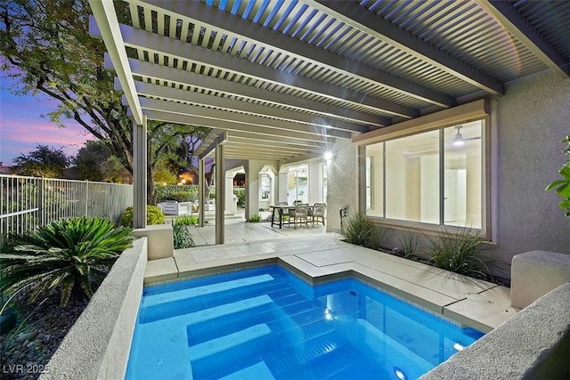
[[390, 228], [388, 247], [403, 231], [476, 229], [505, 278], [513, 255], [570, 254], [570, 222], [544, 190], [570, 133], [566, 2], [146, 0], [127, 1], [126, 20], [90, 4], [138, 167], [147, 119], [211, 128], [198, 154], [201, 177], [216, 160], [217, 243], [245, 172], [246, 217], [325, 201], [327, 230], [346, 207]]

